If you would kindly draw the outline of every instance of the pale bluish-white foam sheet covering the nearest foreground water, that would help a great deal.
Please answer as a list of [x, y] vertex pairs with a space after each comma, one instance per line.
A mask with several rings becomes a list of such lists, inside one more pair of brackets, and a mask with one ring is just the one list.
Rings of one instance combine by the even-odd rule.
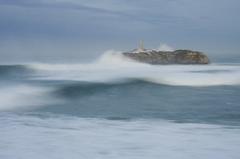
[[167, 121], [0, 116], [4, 159], [239, 159], [240, 129]]

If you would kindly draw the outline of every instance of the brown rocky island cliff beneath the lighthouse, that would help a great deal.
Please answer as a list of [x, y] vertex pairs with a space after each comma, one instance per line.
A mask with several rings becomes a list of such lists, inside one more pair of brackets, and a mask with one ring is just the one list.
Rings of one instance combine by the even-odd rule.
[[153, 65], [161, 64], [209, 64], [208, 57], [198, 51], [175, 50], [175, 51], [157, 51], [143, 50], [122, 53], [125, 57], [134, 61], [148, 63]]

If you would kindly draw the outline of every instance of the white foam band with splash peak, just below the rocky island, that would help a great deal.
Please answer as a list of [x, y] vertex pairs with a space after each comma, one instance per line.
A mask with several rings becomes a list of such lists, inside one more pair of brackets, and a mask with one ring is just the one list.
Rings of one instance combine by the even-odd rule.
[[140, 79], [179, 86], [239, 85], [240, 65], [149, 65], [126, 59], [108, 51], [87, 64], [32, 64], [48, 80], [116, 82]]

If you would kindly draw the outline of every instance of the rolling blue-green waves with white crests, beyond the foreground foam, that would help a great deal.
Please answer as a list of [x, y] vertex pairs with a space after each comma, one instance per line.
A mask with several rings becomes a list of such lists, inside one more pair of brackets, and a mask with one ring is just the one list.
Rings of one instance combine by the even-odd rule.
[[[239, 64], [157, 66], [108, 51], [90, 63], [32, 63], [0, 70], [0, 112], [239, 121], [239, 111], [226, 111], [239, 109]], [[215, 109], [220, 109], [218, 115]]]

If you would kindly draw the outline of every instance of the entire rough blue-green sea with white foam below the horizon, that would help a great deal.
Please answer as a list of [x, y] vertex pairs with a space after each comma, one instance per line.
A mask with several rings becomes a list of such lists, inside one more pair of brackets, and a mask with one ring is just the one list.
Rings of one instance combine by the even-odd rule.
[[240, 63], [0, 66], [1, 159], [239, 159]]

